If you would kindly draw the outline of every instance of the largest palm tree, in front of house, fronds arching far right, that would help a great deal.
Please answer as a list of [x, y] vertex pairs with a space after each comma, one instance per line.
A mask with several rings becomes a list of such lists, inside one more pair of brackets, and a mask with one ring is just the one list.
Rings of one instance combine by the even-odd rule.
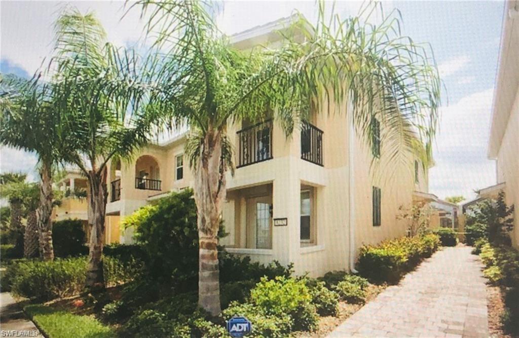
[[[371, 145], [375, 114], [383, 122], [387, 158], [399, 162], [431, 155], [440, 80], [432, 53], [399, 32], [395, 13], [378, 25], [360, 17], [381, 8], [368, 5], [359, 17], [327, 20], [319, 5], [313, 25], [304, 18], [286, 30], [276, 50], [237, 50], [218, 29], [208, 6], [197, 1], [141, 0], [147, 33], [156, 38], [141, 70], [148, 110], [175, 125], [187, 124], [186, 153], [194, 171], [199, 231], [199, 306], [221, 311], [217, 232], [233, 169], [227, 126], [262, 120], [267, 112], [287, 136], [310, 110], [351, 98], [356, 130]], [[124, 92], [124, 90], [121, 90]], [[324, 103], [323, 103], [324, 102]], [[425, 144], [425, 146], [422, 146]]]

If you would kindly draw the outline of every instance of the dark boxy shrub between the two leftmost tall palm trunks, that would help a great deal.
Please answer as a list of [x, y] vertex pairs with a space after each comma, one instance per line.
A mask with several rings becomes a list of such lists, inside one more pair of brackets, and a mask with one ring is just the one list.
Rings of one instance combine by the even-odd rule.
[[81, 220], [63, 220], [52, 223], [54, 255], [69, 257], [88, 254], [86, 236]]

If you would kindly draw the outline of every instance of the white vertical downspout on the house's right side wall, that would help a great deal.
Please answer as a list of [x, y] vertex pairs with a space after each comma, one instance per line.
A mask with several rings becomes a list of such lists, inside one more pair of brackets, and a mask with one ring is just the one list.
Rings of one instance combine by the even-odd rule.
[[348, 106], [348, 124], [349, 124], [349, 140], [348, 140], [348, 158], [349, 158], [349, 184], [348, 184], [348, 194], [349, 194], [349, 225], [350, 225], [350, 272], [356, 274], [358, 271], [355, 269], [355, 177], [354, 177], [354, 147], [353, 142], [355, 141], [355, 128], [353, 126], [353, 105], [351, 101], [349, 101]]

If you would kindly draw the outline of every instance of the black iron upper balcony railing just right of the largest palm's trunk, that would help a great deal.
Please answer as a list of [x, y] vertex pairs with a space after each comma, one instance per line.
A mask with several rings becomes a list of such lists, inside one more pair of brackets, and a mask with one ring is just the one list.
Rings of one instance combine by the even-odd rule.
[[272, 120], [257, 123], [238, 133], [238, 168], [272, 158]]

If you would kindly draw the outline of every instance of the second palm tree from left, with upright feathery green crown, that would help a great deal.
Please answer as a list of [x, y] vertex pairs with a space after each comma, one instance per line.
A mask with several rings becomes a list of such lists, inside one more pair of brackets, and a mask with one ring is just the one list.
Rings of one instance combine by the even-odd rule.
[[131, 105], [142, 101], [136, 98], [142, 90], [132, 86], [137, 58], [133, 52], [107, 43], [103, 27], [92, 13], [81, 15], [75, 9], [65, 9], [56, 22], [55, 41], [49, 70], [54, 110], [60, 116], [58, 153], [64, 163], [77, 166], [88, 180], [86, 287], [104, 288], [106, 165], [114, 156], [128, 158], [146, 144], [151, 121], [160, 116]]

